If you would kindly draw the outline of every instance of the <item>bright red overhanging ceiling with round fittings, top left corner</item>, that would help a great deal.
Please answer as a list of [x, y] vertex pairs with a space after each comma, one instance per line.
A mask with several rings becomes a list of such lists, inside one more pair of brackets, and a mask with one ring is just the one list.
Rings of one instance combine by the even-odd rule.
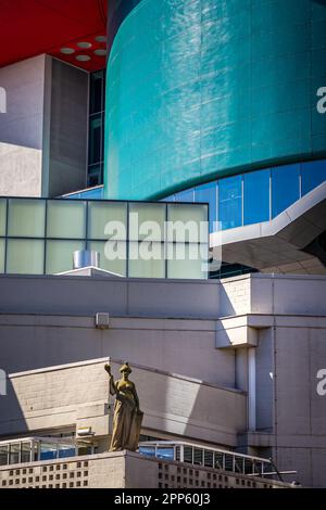
[[[105, 17], [106, 0], [0, 0], [0, 67], [41, 53], [89, 71], [103, 67], [103, 56], [93, 51], [105, 46], [95, 41], [96, 36], [105, 35]], [[96, 44], [87, 50], [90, 61], [60, 53], [71, 44], [76, 50], [80, 41]]]

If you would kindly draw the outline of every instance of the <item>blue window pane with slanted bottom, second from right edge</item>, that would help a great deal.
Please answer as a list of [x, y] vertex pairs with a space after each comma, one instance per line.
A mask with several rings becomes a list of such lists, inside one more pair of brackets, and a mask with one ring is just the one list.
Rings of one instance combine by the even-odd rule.
[[300, 165], [287, 165], [272, 169], [272, 217], [275, 218], [299, 200]]

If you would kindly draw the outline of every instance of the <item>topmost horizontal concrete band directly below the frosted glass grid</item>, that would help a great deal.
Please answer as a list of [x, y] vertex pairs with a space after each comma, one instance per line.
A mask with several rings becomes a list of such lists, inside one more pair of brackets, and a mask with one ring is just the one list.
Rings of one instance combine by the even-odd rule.
[[[0, 313], [214, 319], [326, 315], [326, 277], [246, 275], [229, 280], [0, 275]], [[293, 299], [293, 295], [296, 299]]]

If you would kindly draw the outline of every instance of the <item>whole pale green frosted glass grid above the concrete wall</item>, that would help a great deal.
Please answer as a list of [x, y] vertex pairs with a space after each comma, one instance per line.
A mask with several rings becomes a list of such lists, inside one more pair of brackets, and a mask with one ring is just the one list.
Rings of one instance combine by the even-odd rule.
[[[165, 221], [185, 219], [198, 230], [186, 231], [184, 242], [183, 229], [164, 227]], [[205, 279], [206, 221], [205, 204], [3, 197], [0, 271], [64, 272], [73, 269], [75, 251], [95, 250], [100, 253], [101, 269], [124, 277]], [[112, 257], [116, 253], [118, 258]]]

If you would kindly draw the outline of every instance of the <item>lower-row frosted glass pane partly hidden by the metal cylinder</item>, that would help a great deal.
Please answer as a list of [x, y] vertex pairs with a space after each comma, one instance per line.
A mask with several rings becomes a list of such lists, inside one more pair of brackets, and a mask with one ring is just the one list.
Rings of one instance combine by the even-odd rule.
[[84, 250], [84, 241], [48, 241], [47, 242], [47, 275], [64, 272], [73, 269], [73, 253]]

